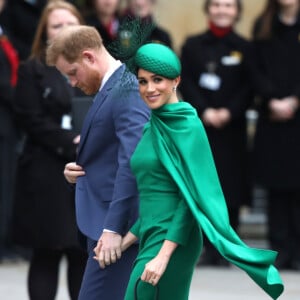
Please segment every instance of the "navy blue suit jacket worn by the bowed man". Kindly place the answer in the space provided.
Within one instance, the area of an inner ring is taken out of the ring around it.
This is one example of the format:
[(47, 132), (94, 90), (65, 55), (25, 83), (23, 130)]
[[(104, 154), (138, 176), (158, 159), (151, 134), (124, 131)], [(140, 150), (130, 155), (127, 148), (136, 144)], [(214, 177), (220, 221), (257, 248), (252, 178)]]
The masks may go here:
[(124, 235), (138, 216), (138, 193), (130, 157), (149, 119), (137, 80), (122, 65), (97, 93), (85, 118), (76, 182), (79, 229), (97, 241), (103, 229)]

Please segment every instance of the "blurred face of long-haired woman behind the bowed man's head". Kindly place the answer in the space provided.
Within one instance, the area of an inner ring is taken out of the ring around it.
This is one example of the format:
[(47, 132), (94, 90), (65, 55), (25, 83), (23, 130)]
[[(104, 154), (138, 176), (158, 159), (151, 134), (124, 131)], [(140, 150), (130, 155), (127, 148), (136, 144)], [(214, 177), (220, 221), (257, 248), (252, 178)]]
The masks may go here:
[(79, 25), (79, 20), (70, 11), (64, 8), (50, 12), (47, 22), (47, 40), (51, 41), (65, 26)]

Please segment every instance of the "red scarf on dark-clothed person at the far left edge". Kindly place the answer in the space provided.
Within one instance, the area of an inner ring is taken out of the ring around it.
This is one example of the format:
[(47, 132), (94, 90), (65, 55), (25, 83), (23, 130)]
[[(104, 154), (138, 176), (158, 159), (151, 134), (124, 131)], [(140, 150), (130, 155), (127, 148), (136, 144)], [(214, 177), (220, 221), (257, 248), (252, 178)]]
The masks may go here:
[(17, 51), (14, 49), (13, 45), (6, 36), (0, 37), (0, 47), (3, 49), (4, 54), (10, 63), (10, 84), (14, 87), (17, 84), (17, 72), (19, 67), (19, 57)]

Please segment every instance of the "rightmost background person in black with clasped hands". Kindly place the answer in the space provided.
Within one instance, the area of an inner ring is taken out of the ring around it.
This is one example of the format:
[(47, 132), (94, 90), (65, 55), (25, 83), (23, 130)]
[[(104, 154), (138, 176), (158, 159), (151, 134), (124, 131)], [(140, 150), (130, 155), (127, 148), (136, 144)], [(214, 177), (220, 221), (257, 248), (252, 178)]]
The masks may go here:
[(278, 268), (300, 270), (300, 1), (268, 0), (253, 28), (254, 180), (267, 191)]

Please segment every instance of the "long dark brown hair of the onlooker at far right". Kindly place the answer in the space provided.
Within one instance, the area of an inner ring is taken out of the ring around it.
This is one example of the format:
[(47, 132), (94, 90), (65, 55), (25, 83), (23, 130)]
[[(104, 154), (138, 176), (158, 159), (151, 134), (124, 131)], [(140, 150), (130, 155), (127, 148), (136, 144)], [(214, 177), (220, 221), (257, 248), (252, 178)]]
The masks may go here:
[(266, 40), (272, 37), (273, 20), (279, 11), (280, 4), (278, 0), (268, 0), (266, 2), (266, 5), (258, 18), (259, 21), (254, 30), (255, 39)]

